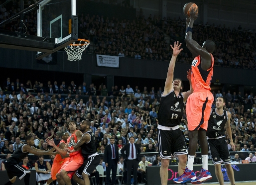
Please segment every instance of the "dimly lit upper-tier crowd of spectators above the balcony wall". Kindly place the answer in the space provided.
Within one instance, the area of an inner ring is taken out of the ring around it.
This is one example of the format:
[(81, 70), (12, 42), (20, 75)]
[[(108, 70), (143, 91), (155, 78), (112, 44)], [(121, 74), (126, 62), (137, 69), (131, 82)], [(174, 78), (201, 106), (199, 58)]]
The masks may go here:
[[(110, 3), (116, 4), (115, 0)], [(129, 6), (124, 1), (123, 5)], [(0, 2), (1, 4), (1, 2)], [(25, 8), (31, 1), (25, 0)], [(18, 0), (12, 0), (0, 7), (0, 22), (9, 18), (20, 10)], [(101, 55), (130, 57), (135, 59), (169, 61), (172, 50), (164, 39), (170, 37), (170, 43), (185, 38), (185, 19), (152, 16), (145, 18), (140, 9), (136, 19), (120, 20), (118, 17), (104, 17), (103, 15), (89, 15), (79, 13), (79, 35), (91, 41), (86, 52)], [(20, 20), (13, 20), (4, 25), (4, 29), (18, 31)], [(37, 14), (32, 11), (24, 16), (26, 34), (37, 34)], [(256, 69), (256, 33), (255, 30), (243, 30), (241, 26), (231, 29), (225, 25), (209, 25), (195, 23), (193, 39), (202, 45), (207, 39), (214, 40), (215, 65), (222, 67)], [(179, 62), (190, 63), (193, 58), (185, 48), (178, 57)]]

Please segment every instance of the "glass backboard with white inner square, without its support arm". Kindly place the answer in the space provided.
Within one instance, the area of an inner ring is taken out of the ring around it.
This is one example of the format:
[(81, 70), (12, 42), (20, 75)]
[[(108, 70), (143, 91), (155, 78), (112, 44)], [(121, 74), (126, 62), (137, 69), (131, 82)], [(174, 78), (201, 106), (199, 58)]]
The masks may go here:
[[(37, 36), (55, 38), (54, 50), (56, 51), (77, 40), (76, 0), (44, 0), (40, 2), (37, 10)], [(38, 52), (37, 59), (48, 54)]]

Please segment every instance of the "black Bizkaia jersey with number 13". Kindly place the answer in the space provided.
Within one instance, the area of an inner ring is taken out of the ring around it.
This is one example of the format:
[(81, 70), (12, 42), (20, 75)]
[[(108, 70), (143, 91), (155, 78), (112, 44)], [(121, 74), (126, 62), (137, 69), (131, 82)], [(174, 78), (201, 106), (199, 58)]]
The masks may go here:
[(180, 124), (183, 116), (184, 97), (182, 93), (176, 96), (174, 91), (161, 96), (157, 118), (162, 126), (173, 127)]

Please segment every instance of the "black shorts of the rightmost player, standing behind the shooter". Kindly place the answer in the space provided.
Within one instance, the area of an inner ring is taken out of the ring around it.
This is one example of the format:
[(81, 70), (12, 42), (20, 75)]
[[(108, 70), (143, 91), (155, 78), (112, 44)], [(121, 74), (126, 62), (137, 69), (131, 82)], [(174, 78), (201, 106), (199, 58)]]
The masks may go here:
[(220, 139), (207, 139), (207, 142), (213, 164), (221, 164), (221, 160), (223, 160), (224, 164), (231, 164), (230, 153), (225, 137)]

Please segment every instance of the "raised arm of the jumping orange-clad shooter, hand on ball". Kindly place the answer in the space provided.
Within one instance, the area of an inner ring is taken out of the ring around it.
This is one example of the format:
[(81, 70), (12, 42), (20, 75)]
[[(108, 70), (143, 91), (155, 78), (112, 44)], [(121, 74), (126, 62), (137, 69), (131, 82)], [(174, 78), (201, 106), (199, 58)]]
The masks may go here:
[[(190, 21), (188, 24), (188, 28), (186, 28), (186, 36), (185, 36), (185, 42), (186, 46), (189, 49), (189, 51), (192, 53), (193, 56), (200, 55), (204, 61), (207, 61), (207, 64), (202, 64), (203, 70), (208, 70), (212, 63), (211, 63), (211, 55), (210, 53), (203, 47), (201, 47), (195, 40), (192, 38), (192, 28), (194, 25), (194, 21), (197, 19), (198, 13), (195, 11), (195, 8), (192, 8), (190, 10)], [(187, 18), (187, 21), (189, 19)], [(186, 21), (186, 25), (187, 25)]]

